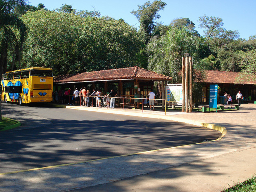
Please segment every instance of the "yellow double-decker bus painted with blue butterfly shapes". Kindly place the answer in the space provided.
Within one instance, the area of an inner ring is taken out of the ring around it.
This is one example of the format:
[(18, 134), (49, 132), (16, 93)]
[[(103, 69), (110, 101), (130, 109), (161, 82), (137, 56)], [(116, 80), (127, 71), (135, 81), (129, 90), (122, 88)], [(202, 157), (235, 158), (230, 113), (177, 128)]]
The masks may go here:
[(51, 102), (52, 69), (32, 67), (9, 71), (2, 75), (1, 100), (23, 103)]

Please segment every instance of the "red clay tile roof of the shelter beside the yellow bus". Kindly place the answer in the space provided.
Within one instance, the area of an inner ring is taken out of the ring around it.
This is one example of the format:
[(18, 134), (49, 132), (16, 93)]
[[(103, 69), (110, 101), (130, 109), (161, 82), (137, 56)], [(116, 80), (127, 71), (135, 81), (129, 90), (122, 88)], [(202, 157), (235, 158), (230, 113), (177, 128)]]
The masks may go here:
[(84, 72), (80, 74), (58, 76), (54, 78), (55, 83), (72, 83), (72, 82), (93, 82), (106, 80), (153, 80), (153, 81), (170, 81), (172, 78), (146, 70), (140, 67), (128, 67), (119, 69), (110, 69), (102, 71)]

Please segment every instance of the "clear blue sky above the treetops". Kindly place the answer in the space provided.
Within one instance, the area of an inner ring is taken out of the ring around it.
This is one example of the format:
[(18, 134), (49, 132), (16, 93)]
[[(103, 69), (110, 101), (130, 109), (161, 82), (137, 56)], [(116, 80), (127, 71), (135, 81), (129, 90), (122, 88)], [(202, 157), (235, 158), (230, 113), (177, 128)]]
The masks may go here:
[[(138, 10), (147, 0), (28, 0), (30, 5), (44, 4), (48, 10), (55, 10), (64, 4), (72, 5), (76, 10), (96, 10), (101, 16), (110, 16), (114, 19), (124, 19), (128, 24), (139, 28), (139, 22), (130, 12)], [(248, 40), (256, 35), (256, 0), (162, 0), (167, 5), (159, 12), (158, 22), (170, 24), (176, 18), (189, 18), (198, 28), (198, 18), (215, 16), (222, 18), (226, 30), (238, 30), (240, 38)], [(150, 2), (153, 2), (151, 0)]]

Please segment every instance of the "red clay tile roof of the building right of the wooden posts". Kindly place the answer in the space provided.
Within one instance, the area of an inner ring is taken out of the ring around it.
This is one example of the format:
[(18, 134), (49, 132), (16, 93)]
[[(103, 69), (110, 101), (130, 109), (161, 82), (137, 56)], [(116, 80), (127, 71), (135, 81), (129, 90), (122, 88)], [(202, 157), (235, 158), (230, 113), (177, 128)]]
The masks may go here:
[(229, 71), (212, 71), (204, 70), (205, 79), (197, 80), (197, 82), (205, 83), (225, 83), (225, 84), (256, 84), (254, 80), (239, 80), (239, 72), (229, 72)]

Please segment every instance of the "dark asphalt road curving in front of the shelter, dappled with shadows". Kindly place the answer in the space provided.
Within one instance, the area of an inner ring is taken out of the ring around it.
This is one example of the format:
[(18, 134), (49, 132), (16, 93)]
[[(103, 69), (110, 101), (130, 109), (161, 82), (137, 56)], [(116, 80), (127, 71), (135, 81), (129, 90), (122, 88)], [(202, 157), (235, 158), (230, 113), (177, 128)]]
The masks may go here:
[(19, 120), (0, 132), (0, 173), (213, 140), (221, 134), (167, 120), (1, 103)]

